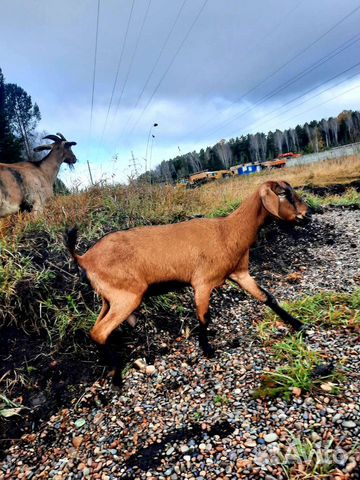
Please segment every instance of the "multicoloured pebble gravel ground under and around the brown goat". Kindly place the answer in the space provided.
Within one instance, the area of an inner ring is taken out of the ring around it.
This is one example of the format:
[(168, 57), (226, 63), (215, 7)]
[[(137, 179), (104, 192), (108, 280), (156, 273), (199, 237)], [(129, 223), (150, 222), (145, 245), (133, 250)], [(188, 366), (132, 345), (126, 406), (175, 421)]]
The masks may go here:
[[(279, 300), (353, 291), (359, 247), (360, 211), (326, 210), (306, 230), (266, 229), (252, 271)], [(220, 289), (212, 298), (214, 359), (193, 336), (159, 332), (154, 368), (129, 368), (121, 389), (110, 378), (80, 384), (70, 408), (9, 449), (0, 479), (281, 479), (295, 438), (311, 440), (324, 462), (335, 459), (331, 478), (360, 478), (359, 334), (318, 328), (307, 339), (345, 365), (339, 396), (255, 400), (263, 371), (275, 366), (256, 330), (263, 311), (233, 287)]]

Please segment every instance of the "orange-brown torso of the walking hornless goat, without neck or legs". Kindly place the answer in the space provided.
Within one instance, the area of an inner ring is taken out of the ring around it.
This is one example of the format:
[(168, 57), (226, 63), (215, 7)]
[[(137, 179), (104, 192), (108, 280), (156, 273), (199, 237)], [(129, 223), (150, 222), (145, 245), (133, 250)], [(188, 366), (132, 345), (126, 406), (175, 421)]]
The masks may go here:
[[(222, 219), (194, 219), (178, 224), (139, 227), (106, 235), (83, 256), (90, 277), (110, 283), (181, 281), (191, 283), (199, 269), (221, 263)], [(224, 262), (224, 259), (223, 259)]]

